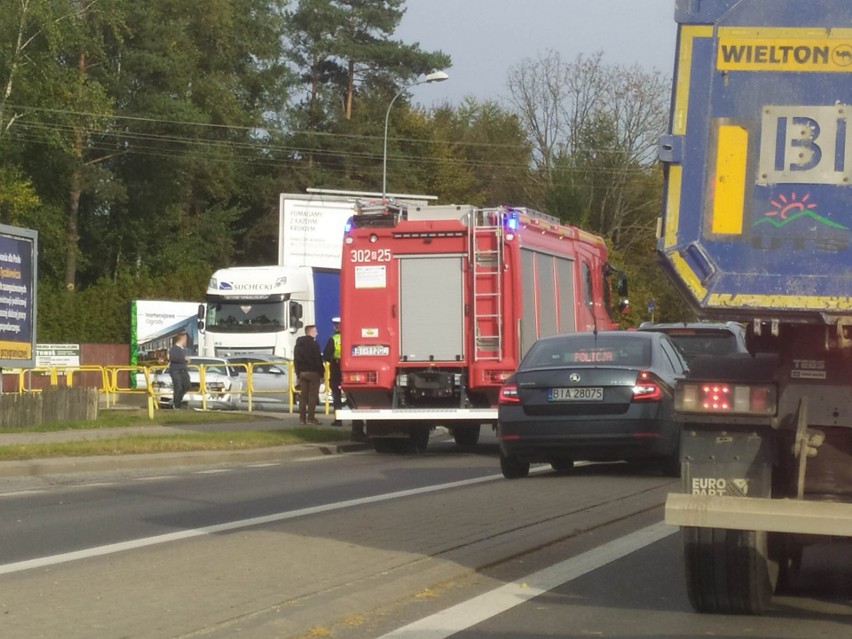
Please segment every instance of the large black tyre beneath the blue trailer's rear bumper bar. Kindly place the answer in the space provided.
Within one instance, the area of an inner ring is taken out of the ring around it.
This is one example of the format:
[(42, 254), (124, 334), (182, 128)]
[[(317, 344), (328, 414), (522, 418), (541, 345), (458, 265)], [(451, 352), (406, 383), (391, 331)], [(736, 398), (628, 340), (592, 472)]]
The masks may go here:
[(767, 534), (753, 530), (684, 527), (689, 603), (698, 612), (763, 614), (769, 607), (777, 564), (768, 557)]

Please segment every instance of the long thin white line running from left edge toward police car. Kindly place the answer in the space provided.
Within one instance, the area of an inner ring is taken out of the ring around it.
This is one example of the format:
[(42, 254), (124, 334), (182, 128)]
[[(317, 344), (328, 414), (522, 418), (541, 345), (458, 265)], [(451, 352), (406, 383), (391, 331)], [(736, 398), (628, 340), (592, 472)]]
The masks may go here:
[(451, 488), (461, 488), (463, 486), (472, 486), (474, 484), (483, 484), (490, 481), (503, 480), (502, 475), (488, 475), (487, 477), (478, 477), (476, 479), (465, 479), (462, 481), (454, 481), (446, 484), (436, 484), (434, 486), (425, 486), (423, 488), (412, 488), (410, 490), (400, 490), (393, 493), (385, 493), (382, 495), (374, 495), (373, 497), (361, 497), (359, 499), (350, 499), (334, 504), (326, 504), (324, 506), (312, 506), (310, 508), (300, 508), (299, 510), (291, 510), (274, 515), (265, 515), (263, 517), (252, 517), (250, 519), (241, 519), (239, 521), (231, 521), (215, 526), (205, 526), (203, 528), (193, 528), (189, 530), (181, 530), (178, 532), (167, 533), (164, 535), (155, 535), (154, 537), (143, 537), (142, 539), (131, 539), (115, 544), (107, 544), (106, 546), (96, 546), (94, 548), (85, 548), (73, 552), (61, 553), (58, 555), (50, 555), (48, 557), (37, 557), (35, 559), (27, 559), (25, 561), (16, 561), (10, 564), (0, 565), (0, 575), (8, 575), (24, 570), (32, 570), (33, 568), (44, 568), (47, 566), (55, 566), (69, 561), (78, 559), (89, 559), (91, 557), (102, 557), (111, 555), (126, 550), (134, 550), (137, 548), (145, 548), (148, 546), (156, 546), (158, 544), (180, 541), (182, 539), (192, 539), (193, 537), (202, 537), (204, 535), (215, 535), (221, 532), (231, 530), (239, 530), (241, 528), (250, 528), (252, 526), (262, 526), (264, 524), (272, 524), (288, 519), (296, 519), (307, 515), (316, 515), (319, 513), (342, 510), (343, 508), (352, 508), (354, 506), (363, 506), (365, 504), (376, 504), (383, 501), (391, 501), (393, 499), (401, 499), (403, 497), (412, 497), (414, 495), (423, 495), (426, 493), (434, 493), (441, 490), (449, 490)]

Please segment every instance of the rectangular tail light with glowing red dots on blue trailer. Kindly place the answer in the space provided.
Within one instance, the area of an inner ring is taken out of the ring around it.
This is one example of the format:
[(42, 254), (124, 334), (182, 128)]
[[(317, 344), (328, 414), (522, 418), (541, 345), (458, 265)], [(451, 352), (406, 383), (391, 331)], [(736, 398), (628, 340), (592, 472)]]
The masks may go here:
[(683, 413), (774, 415), (775, 386), (731, 382), (684, 382), (675, 391), (675, 410)]

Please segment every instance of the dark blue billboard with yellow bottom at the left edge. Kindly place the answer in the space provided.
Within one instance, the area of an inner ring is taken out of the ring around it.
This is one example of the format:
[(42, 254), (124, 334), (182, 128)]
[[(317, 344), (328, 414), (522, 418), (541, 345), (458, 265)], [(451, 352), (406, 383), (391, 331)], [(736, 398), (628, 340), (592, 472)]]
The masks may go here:
[(0, 367), (35, 366), (38, 233), (0, 224)]

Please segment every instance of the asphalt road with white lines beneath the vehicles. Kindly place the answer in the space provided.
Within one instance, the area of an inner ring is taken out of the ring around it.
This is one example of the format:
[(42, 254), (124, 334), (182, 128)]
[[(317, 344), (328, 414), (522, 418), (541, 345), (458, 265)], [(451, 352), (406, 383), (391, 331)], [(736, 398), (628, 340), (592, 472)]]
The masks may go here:
[(507, 481), (483, 435), (0, 480), (0, 636), (850, 636), (852, 555), (806, 556), (808, 588), (764, 618), (698, 615), (660, 523), (676, 482), (623, 464)]

